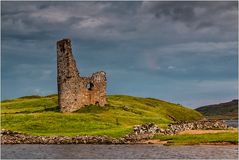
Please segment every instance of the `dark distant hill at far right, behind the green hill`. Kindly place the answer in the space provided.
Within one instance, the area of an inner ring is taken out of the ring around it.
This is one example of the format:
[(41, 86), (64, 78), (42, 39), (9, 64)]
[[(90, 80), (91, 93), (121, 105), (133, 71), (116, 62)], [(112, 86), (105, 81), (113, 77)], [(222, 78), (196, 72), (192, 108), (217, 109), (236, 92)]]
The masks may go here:
[(238, 100), (203, 106), (196, 110), (209, 119), (238, 119)]

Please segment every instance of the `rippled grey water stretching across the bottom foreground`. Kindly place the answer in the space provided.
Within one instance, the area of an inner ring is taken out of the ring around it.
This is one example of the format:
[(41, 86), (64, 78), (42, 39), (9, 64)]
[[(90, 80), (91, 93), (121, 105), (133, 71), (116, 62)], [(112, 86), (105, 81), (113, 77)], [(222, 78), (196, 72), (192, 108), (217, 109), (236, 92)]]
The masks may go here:
[(2, 145), (3, 159), (237, 159), (238, 146), (163, 146), (163, 145)]

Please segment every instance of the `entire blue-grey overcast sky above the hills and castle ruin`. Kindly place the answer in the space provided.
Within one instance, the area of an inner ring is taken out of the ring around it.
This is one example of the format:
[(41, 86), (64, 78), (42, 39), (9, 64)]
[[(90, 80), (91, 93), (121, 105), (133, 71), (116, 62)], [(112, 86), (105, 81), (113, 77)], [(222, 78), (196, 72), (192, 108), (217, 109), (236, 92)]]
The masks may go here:
[(188, 107), (237, 98), (237, 2), (1, 2), (2, 99), (57, 92), (56, 41), (108, 94)]

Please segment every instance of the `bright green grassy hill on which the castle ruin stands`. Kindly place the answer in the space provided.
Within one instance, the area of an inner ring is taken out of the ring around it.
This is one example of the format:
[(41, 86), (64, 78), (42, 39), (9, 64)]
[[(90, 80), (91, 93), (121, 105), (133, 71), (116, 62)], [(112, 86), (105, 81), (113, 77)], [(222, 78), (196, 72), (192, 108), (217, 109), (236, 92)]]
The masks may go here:
[(74, 113), (60, 113), (56, 95), (5, 100), (1, 102), (2, 128), (32, 135), (121, 137), (137, 124), (154, 122), (166, 127), (175, 120), (202, 118), (195, 110), (153, 98), (112, 95), (107, 103), (105, 107), (91, 105)]

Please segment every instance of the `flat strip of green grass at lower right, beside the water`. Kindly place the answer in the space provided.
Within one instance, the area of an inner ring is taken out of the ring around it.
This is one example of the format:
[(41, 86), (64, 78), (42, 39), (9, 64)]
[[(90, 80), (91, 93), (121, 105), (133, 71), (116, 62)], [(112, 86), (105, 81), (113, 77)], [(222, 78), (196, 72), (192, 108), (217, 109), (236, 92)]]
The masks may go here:
[(238, 144), (238, 132), (206, 133), (206, 134), (183, 134), (183, 135), (155, 135), (153, 139), (167, 141), (167, 145), (194, 145), (205, 143), (228, 142)]

